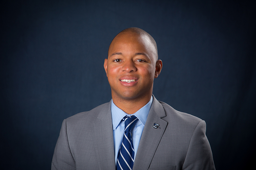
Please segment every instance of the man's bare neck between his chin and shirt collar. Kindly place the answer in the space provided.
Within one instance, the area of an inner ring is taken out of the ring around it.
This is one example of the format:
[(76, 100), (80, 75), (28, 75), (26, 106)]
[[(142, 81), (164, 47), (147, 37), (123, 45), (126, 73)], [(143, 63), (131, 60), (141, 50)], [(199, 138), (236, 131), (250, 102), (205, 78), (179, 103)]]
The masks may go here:
[(144, 96), (143, 98), (139, 99), (121, 99), (117, 96), (112, 95), (112, 100), (117, 107), (122, 109), (127, 114), (134, 114), (141, 107), (145, 106), (151, 99), (152, 94), (149, 96)]

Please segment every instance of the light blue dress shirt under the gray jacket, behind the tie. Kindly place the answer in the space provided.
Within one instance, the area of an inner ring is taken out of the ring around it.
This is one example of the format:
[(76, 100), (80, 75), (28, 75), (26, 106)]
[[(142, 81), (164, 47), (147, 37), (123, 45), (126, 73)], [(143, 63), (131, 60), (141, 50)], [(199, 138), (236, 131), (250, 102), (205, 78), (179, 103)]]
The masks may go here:
[[(140, 143), (140, 138), (148, 118), (148, 113), (149, 113), (152, 101), (153, 101), (153, 97), (151, 96), (150, 101), (145, 106), (141, 107), (140, 110), (132, 114), (139, 119), (133, 125), (131, 130), (132, 142), (133, 142), (134, 152), (135, 152), (134, 159), (136, 157), (136, 153)], [(114, 104), (113, 100), (111, 101), (111, 113), (112, 113), (112, 123), (113, 123), (114, 146), (115, 146), (115, 160), (117, 161), (117, 155), (120, 150), (123, 136), (124, 136), (124, 121), (121, 121), (121, 120), (124, 118), (124, 116), (129, 114), (125, 113), (123, 110), (118, 108)]]

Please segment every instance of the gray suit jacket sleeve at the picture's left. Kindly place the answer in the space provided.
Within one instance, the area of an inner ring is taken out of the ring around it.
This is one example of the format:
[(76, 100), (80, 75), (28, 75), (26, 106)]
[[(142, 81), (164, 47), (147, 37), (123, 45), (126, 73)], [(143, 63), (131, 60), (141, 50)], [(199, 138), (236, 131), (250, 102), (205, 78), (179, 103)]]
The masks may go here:
[(76, 163), (70, 151), (66, 119), (62, 122), (60, 136), (52, 157), (52, 170), (75, 170)]

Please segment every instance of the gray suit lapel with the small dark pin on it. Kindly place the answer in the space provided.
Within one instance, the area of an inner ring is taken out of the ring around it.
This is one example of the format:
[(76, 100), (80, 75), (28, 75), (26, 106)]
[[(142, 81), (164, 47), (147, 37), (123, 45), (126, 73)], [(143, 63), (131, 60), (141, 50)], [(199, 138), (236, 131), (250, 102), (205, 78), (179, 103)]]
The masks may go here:
[[(144, 126), (138, 151), (134, 160), (133, 170), (148, 169), (156, 148), (164, 134), (167, 122), (161, 118), (165, 116), (163, 106), (153, 96), (152, 106), (148, 113), (148, 118)], [(153, 124), (159, 124), (158, 128), (153, 128)]]

